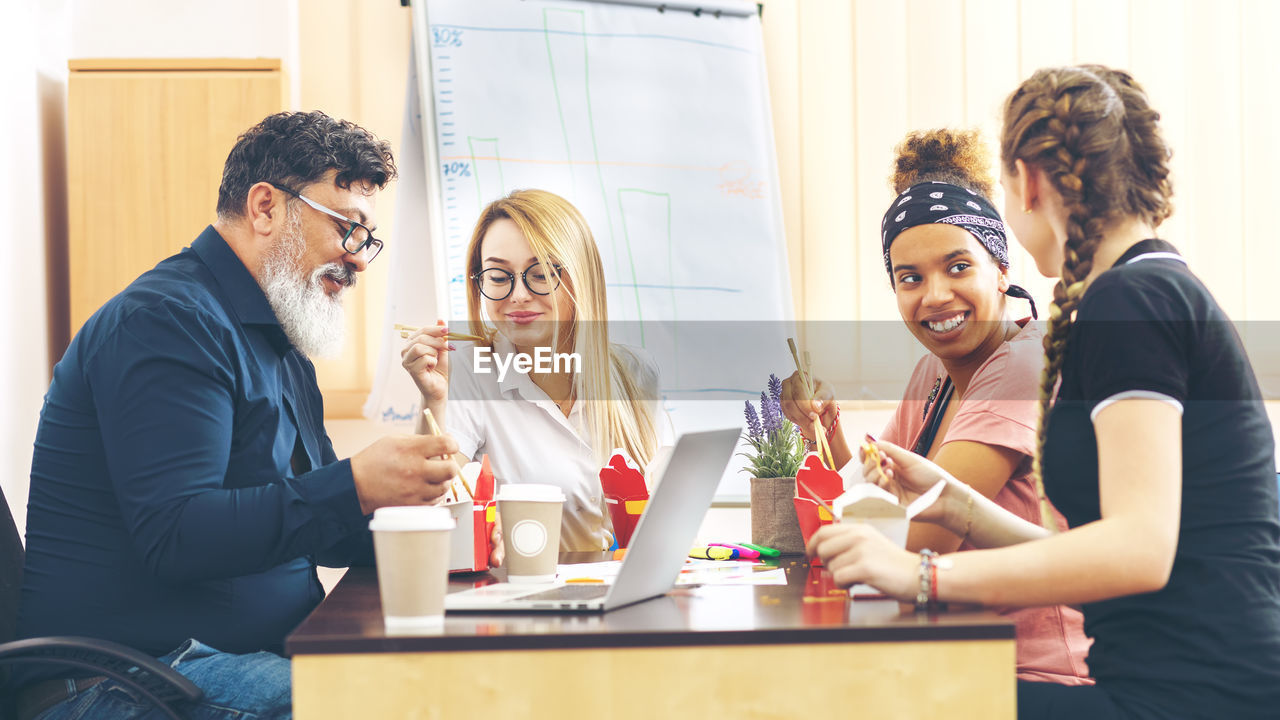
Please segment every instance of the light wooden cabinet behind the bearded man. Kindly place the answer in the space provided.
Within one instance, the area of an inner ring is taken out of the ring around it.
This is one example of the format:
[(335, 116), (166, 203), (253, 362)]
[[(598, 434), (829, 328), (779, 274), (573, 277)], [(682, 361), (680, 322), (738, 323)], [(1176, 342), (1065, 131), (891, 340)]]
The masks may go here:
[(271, 59), (72, 60), (70, 331), (214, 222), (223, 163), (284, 109)]

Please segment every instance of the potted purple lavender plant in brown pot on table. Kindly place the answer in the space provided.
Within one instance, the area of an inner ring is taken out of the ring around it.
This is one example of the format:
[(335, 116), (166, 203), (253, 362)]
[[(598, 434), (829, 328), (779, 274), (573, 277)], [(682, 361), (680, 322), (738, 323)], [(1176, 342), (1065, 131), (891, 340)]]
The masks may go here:
[(746, 442), (750, 450), (744, 471), (751, 475), (751, 542), (785, 553), (804, 552), (804, 538), (792, 498), (796, 471), (804, 461), (800, 430), (782, 416), (782, 380), (769, 375), (756, 411), (746, 402)]

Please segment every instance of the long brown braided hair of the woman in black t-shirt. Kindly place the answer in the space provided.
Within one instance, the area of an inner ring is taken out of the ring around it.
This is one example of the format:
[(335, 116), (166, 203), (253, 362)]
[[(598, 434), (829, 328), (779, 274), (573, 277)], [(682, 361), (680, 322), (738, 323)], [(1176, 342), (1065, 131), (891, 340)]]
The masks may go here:
[(1062, 273), (1044, 333), (1033, 461), (1041, 521), (1050, 529), (1056, 524), (1041, 473), (1048, 411), (1093, 254), (1103, 228), (1114, 220), (1135, 217), (1156, 227), (1172, 213), (1170, 152), (1158, 120), (1132, 76), (1101, 65), (1038, 70), (1005, 102), (1001, 158), (1006, 170), (1016, 172), (1016, 160), (1043, 170), (1068, 213)]

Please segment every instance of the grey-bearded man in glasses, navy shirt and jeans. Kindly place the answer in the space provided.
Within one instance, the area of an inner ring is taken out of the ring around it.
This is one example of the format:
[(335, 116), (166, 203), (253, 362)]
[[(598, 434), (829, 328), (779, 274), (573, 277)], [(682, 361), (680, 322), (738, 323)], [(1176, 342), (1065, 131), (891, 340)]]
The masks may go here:
[[(160, 657), (205, 691), (192, 716), (289, 715), (279, 652), (324, 596), (316, 564), (371, 562), (367, 516), (453, 477), (447, 437), (338, 460), (308, 360), (342, 343), (394, 176), (389, 146), (352, 123), (271, 115), (227, 158), (218, 220), (90, 318), (40, 415), (18, 637)], [(86, 675), (15, 673), (19, 712), (148, 712)]]

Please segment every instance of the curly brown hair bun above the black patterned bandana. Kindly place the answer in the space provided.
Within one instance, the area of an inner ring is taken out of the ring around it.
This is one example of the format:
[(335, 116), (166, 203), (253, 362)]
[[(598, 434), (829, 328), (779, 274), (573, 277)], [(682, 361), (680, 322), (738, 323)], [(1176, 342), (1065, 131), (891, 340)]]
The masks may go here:
[(931, 129), (909, 133), (893, 149), (890, 186), (901, 195), (913, 184), (940, 181), (991, 197), (991, 150), (975, 129)]

